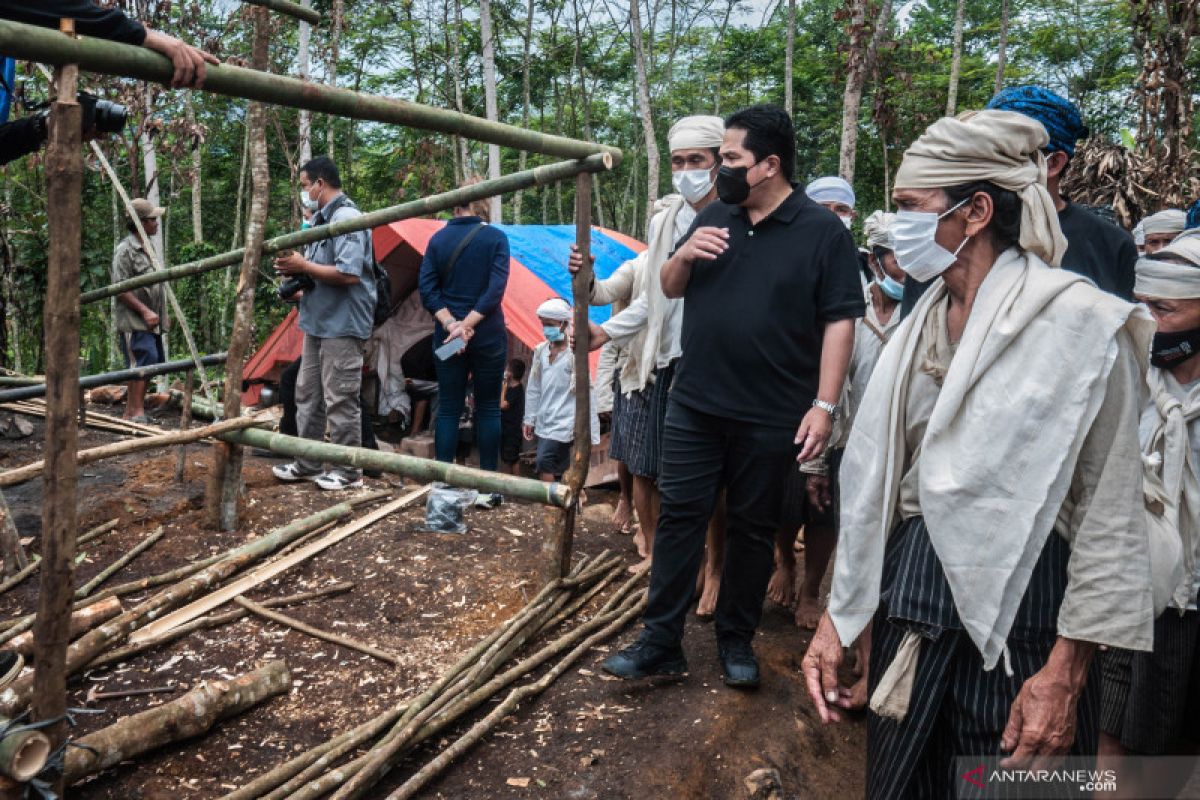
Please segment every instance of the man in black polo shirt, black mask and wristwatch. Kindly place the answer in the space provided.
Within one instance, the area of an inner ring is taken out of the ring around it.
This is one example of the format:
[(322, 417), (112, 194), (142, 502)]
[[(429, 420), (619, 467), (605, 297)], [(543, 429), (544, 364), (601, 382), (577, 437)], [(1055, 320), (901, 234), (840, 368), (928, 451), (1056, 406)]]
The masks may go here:
[(730, 686), (758, 685), (750, 640), (774, 564), (786, 471), (824, 450), (865, 312), (858, 258), (835, 215), (792, 185), (796, 134), (775, 106), (730, 116), (709, 204), (662, 267), (684, 299), (667, 407), (650, 590), (638, 640), (604, 669), (686, 670), (680, 642), (720, 491), (728, 530), (715, 628)]

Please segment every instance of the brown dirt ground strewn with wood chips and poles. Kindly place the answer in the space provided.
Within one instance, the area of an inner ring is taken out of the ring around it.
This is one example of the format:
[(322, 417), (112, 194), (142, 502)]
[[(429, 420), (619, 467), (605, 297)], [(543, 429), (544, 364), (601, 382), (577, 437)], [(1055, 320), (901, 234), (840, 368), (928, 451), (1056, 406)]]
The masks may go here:
[[(109, 411), (101, 408), (97, 410)], [(168, 420), (164, 427), (175, 425)], [(32, 437), (0, 441), (0, 469), (41, 457), (41, 421)], [(80, 446), (114, 437), (96, 431)], [(156, 575), (222, 552), (252, 536), (336, 501), (312, 485), (280, 485), (274, 461), (247, 458), (248, 501), (240, 530), (204, 528), (202, 505), (209, 449), (187, 450), (185, 481), (175, 483), (175, 453), (138, 455), (89, 464), (79, 476), (80, 530), (113, 518), (115, 531), (84, 546), (77, 583), (97, 575), (157, 525), (166, 536), (110, 583)], [(395, 477), (367, 480), (398, 488)], [(41, 482), (5, 492), (18, 529), (40, 549)], [(592, 492), (592, 503), (611, 500)], [(594, 516), (594, 515), (589, 515)], [(317, 627), (344, 633), (397, 654), (394, 667), (274, 622), (246, 618), (199, 631), (173, 644), (72, 681), (70, 703), (84, 706), (101, 691), (173, 685), (172, 693), (102, 700), (103, 712), (80, 715), (78, 734), (178, 697), (197, 681), (230, 678), (284, 658), (292, 691), (218, 724), (209, 735), (121, 764), (78, 786), (72, 796), (139, 800), (217, 798), (287, 757), (317, 745), (419, 693), (473, 643), (511, 616), (536, 585), (542, 536), (540, 507), (506, 503), (472, 511), (462, 535), (421, 530), (424, 505), (389, 517), (259, 587), (263, 600), (354, 582), (347, 594), (283, 609)], [(629, 537), (607, 522), (584, 518), (577, 553), (608, 548), (636, 561)], [(37, 581), (0, 596), (0, 619), (34, 609)], [(142, 596), (125, 599), (126, 607)], [(224, 610), (224, 609), (222, 609)], [(631, 626), (532, 703), (505, 720), (457, 762), (422, 798), (745, 798), (743, 778), (778, 769), (786, 798), (862, 796), (865, 726), (854, 720), (822, 727), (804, 697), (799, 661), (808, 634), (778, 608), (763, 616), (756, 649), (763, 685), (752, 693), (721, 684), (712, 626), (689, 619), (689, 678), (626, 684), (602, 674), (599, 662), (636, 634)], [(456, 734), (448, 734), (449, 738)], [(418, 751), (371, 796), (395, 789), (432, 747)]]

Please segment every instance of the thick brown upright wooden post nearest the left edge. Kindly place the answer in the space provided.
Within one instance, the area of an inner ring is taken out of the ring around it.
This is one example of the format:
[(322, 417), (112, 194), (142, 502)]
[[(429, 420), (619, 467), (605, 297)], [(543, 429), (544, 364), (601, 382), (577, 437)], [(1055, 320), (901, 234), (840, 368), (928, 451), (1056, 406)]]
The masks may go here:
[[(74, 23), (60, 22), (74, 36)], [(34, 624), (34, 720), (66, 712), (66, 655), (71, 633), (76, 548), (76, 446), (79, 399), (79, 249), (83, 193), (83, 116), (76, 102), (78, 67), (56, 70), (46, 154), (49, 258), (46, 276), (46, 473), (42, 488), (42, 576)], [(46, 729), (53, 747), (64, 723)], [(54, 790), (61, 796), (61, 777)]]

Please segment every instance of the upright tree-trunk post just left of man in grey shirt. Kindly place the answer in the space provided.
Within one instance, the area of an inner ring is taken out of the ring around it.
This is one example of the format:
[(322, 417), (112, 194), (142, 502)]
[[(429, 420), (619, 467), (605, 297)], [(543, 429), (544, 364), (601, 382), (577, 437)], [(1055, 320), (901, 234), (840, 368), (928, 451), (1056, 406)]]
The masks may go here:
[[(271, 37), (271, 20), (266, 8), (254, 8), (254, 47), (251, 65), (265, 72), (268, 46)], [(241, 414), (241, 368), (250, 350), (250, 336), (254, 327), (254, 285), (258, 283), (258, 265), (263, 260), (263, 231), (266, 228), (266, 203), (270, 192), (270, 173), (266, 157), (266, 108), (263, 103), (250, 104), (246, 114), (250, 132), (250, 219), (246, 228), (246, 253), (241, 259), (238, 278), (238, 301), (234, 306), (233, 332), (229, 336), (229, 359), (226, 361), (224, 419)], [(212, 471), (209, 479), (206, 511), (208, 522), (220, 530), (238, 528), (238, 499), (241, 494), (240, 445), (220, 441), (212, 445)]]

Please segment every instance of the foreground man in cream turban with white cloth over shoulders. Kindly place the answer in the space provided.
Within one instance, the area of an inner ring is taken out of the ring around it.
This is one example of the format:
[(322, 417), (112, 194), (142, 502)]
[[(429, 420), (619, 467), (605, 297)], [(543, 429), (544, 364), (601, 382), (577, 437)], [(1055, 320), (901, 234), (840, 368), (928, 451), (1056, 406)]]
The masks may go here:
[(834, 721), (842, 646), (871, 628), (871, 798), (954, 796), (958, 756), (1094, 754), (1097, 645), (1151, 648), (1153, 321), (1055, 267), (1046, 142), (1025, 115), (968, 112), (896, 173), (896, 259), (937, 279), (858, 408), (829, 610), (803, 661)]

